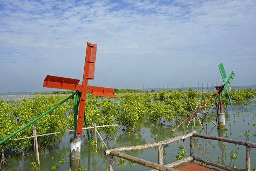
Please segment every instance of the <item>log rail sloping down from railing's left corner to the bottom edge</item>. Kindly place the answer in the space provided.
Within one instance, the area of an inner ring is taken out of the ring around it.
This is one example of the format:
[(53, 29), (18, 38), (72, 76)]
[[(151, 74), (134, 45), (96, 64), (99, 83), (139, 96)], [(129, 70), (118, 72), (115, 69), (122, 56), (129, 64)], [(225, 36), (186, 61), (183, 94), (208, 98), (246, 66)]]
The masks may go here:
[(153, 163), (151, 161), (147, 161), (147, 160), (143, 160), (143, 159), (140, 159), (140, 158), (137, 158), (137, 157), (134, 157), (134, 156), (119, 153), (117, 151), (111, 151), (111, 155), (129, 160), (129, 161), (132, 161), (134, 163), (137, 163), (137, 164), (140, 164), (140, 165), (143, 165), (143, 166), (147, 166), (147, 167), (152, 168), (152, 169), (157, 169), (159, 171), (178, 171), (177, 169), (169, 168), (169, 167), (163, 166), (163, 165), (158, 164), (158, 163)]

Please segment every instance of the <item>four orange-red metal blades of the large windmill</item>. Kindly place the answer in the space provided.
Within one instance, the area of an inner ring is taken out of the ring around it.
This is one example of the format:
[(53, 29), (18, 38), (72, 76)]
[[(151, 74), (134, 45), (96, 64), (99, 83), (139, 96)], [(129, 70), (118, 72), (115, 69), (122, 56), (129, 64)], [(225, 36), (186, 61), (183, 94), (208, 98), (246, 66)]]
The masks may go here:
[(81, 91), (78, 122), (77, 122), (77, 135), (82, 135), (83, 116), (85, 112), (86, 92), (89, 91), (93, 96), (115, 98), (113, 88), (104, 88), (97, 86), (88, 86), (88, 80), (94, 79), (95, 61), (96, 61), (97, 45), (87, 43), (85, 68), (83, 72), (82, 85), (78, 84), (80, 80), (65, 77), (56, 77), (47, 75), (44, 79), (44, 87), (59, 88), (65, 90)]

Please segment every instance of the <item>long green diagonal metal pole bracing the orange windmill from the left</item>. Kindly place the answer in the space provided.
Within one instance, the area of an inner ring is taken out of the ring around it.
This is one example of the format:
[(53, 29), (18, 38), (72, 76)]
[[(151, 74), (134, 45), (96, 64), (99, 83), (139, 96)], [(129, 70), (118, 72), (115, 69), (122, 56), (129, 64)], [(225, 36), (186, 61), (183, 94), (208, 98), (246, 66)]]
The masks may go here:
[(36, 119), (34, 119), (33, 121), (29, 122), (28, 124), (26, 124), (25, 126), (23, 126), (22, 128), (20, 128), (19, 130), (15, 131), (13, 134), (9, 135), (8, 137), (6, 137), (5, 139), (3, 139), (0, 144), (6, 142), (8, 139), (10, 139), (11, 137), (13, 137), (15, 134), (18, 134), (19, 132), (21, 132), (23, 129), (25, 129), (26, 127), (28, 127), (29, 125), (33, 124), (34, 122), (38, 121), (39, 119), (41, 119), (43, 116), (45, 116), (46, 114), (48, 114), (49, 112), (51, 112), (52, 110), (54, 110), (55, 108), (59, 107), (60, 104), (64, 103), (65, 101), (67, 101), (68, 99), (72, 98), (73, 96), (75, 96), (76, 93), (71, 94), (70, 96), (68, 96), (67, 98), (65, 98), (63, 101), (61, 101), (59, 104), (57, 104), (56, 106), (52, 107), (51, 109), (49, 109), (47, 112), (43, 113), (41, 116), (37, 117)]

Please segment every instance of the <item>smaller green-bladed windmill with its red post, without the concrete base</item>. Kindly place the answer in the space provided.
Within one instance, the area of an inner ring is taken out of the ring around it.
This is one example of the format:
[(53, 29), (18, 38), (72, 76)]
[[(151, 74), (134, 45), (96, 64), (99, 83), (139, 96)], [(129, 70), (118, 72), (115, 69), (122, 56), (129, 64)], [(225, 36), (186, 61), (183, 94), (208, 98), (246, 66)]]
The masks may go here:
[[(218, 65), (218, 68), (220, 69), (220, 74), (221, 74), (221, 77), (222, 77), (224, 85), (222, 85), (222, 86), (215, 86), (215, 88), (217, 89), (217, 91), (221, 89), (219, 91), (219, 95), (220, 96), (218, 98), (218, 101), (219, 101), (219, 106), (220, 106), (220, 113), (223, 113), (223, 111), (222, 111), (222, 96), (224, 95), (225, 91), (227, 91), (228, 100), (229, 100), (230, 106), (233, 107), (232, 101), (231, 101), (230, 95), (228, 93), (228, 88), (227, 87), (228, 87), (228, 84), (231, 85), (231, 83), (233, 82), (233, 79), (235, 78), (235, 73), (232, 71), (230, 76), (228, 77), (228, 80), (226, 81), (227, 74), (225, 72), (223, 64), (221, 63), (220, 65)], [(218, 109), (217, 109), (217, 113), (218, 113)]]

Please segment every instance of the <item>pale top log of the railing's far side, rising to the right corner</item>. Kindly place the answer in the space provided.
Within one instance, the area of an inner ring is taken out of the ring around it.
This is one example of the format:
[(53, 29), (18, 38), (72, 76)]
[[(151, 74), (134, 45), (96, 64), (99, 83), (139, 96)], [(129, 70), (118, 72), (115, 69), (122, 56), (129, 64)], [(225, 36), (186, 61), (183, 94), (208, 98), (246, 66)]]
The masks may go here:
[(165, 145), (165, 144), (169, 144), (178, 140), (183, 140), (185, 138), (191, 137), (195, 132), (190, 132), (189, 134), (186, 135), (180, 135), (174, 138), (171, 138), (169, 140), (165, 140), (165, 141), (160, 141), (160, 142), (153, 142), (153, 143), (147, 143), (147, 144), (143, 144), (143, 145), (135, 145), (135, 146), (129, 146), (129, 147), (119, 147), (119, 148), (113, 148), (110, 150), (105, 150), (104, 151), (104, 155), (109, 155), (111, 151), (118, 151), (118, 152), (122, 152), (122, 151), (134, 151), (134, 150), (144, 150), (146, 148), (152, 148), (152, 147), (158, 147), (159, 145)]

